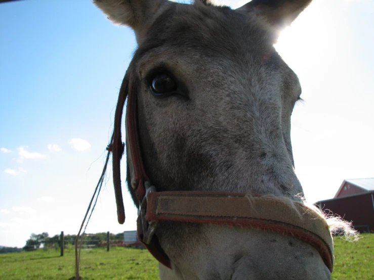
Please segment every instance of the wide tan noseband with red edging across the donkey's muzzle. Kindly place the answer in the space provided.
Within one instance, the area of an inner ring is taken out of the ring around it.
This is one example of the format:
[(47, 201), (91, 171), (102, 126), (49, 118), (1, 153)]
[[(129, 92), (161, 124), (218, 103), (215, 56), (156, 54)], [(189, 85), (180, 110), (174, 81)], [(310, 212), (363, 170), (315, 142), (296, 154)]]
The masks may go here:
[(324, 217), (299, 202), (215, 192), (158, 192), (147, 196), (147, 220), (261, 228), (314, 246), (333, 270), (333, 239)]

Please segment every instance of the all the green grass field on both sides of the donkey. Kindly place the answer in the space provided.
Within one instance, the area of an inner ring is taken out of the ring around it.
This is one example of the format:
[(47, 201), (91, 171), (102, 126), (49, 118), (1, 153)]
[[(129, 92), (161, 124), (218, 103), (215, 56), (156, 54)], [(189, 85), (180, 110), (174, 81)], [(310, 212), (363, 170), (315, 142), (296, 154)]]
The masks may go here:
[[(335, 239), (333, 279), (374, 280), (374, 234), (364, 234), (356, 243)], [(0, 255), (0, 279), (68, 280), (74, 275), (74, 251), (64, 257), (59, 250), (37, 250)], [(83, 279), (158, 279), (158, 265), (146, 250), (112, 247), (82, 251)], [(316, 279), (317, 280), (317, 279)]]

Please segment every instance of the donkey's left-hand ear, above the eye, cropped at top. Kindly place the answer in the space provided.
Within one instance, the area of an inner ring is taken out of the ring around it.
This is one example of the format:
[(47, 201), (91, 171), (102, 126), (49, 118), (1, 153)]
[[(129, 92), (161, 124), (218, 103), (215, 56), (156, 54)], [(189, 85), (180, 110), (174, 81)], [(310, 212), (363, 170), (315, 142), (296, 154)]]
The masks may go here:
[(168, 0), (94, 0), (95, 5), (114, 24), (134, 29), (138, 43), (154, 15)]

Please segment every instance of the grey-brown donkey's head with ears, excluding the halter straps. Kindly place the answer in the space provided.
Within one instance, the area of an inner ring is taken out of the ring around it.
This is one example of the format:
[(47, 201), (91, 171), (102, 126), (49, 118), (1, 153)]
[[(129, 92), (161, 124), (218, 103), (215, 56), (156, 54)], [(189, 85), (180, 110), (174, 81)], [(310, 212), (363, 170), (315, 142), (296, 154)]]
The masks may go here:
[[(135, 31), (128, 74), (157, 191), (297, 200), (290, 116), (301, 87), (273, 43), (310, 0), (253, 0), (236, 10), (200, 1), (94, 2)], [(173, 267), (160, 265), (162, 279), (330, 279), (314, 247), (274, 232), (162, 222), (156, 235)]]

